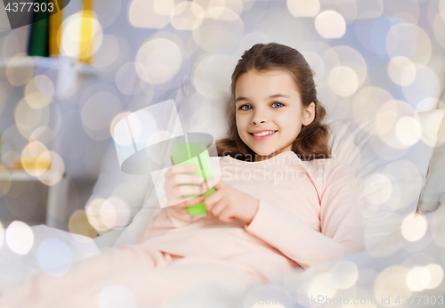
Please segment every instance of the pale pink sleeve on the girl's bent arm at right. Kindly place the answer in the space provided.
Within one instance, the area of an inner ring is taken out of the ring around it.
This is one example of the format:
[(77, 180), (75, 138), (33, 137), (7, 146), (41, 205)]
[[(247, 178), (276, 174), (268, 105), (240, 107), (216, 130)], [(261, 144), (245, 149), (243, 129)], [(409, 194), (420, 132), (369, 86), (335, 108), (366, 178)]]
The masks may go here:
[(359, 188), (352, 168), (337, 162), (323, 186), (319, 191), (321, 232), (262, 200), (244, 229), (303, 268), (363, 250)]

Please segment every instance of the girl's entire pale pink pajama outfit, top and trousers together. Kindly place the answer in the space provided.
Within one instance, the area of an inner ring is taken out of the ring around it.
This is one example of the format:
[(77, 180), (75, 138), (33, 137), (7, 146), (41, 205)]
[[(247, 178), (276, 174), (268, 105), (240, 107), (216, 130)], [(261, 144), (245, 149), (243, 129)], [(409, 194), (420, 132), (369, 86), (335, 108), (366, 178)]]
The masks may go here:
[(153, 307), (209, 284), (241, 292), (364, 248), (349, 166), (303, 162), (288, 151), (263, 162), (221, 158), (221, 167), (223, 181), (260, 200), (249, 225), (166, 207), (150, 219), (139, 244), (84, 260), (62, 277), (43, 274), (6, 289), (0, 307), (108, 307), (119, 300)]

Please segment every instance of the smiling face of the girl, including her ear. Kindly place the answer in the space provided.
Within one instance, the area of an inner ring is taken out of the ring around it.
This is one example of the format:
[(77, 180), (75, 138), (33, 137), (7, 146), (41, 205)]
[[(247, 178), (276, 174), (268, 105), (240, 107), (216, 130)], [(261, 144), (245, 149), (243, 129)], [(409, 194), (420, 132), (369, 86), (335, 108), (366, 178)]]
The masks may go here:
[(235, 86), (239, 137), (261, 157), (292, 150), (302, 124), (311, 124), (315, 104), (304, 107), (294, 79), (283, 70), (248, 72)]

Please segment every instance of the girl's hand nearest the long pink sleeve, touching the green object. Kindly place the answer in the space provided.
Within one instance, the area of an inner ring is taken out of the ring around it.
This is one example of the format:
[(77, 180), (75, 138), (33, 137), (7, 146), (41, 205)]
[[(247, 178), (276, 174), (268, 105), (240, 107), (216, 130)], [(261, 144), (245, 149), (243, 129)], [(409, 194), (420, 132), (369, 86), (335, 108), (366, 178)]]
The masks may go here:
[(207, 217), (230, 223), (235, 218), (249, 224), (254, 219), (260, 201), (244, 192), (234, 189), (226, 182), (220, 180), (214, 185), (216, 190), (204, 199)]

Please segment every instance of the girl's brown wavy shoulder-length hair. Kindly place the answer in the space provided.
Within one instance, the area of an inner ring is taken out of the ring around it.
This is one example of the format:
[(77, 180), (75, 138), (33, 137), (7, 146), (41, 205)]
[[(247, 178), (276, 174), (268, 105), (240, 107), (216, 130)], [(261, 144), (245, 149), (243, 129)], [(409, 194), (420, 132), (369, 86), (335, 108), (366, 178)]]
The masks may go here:
[(256, 44), (245, 51), (231, 75), (231, 97), (227, 104), (226, 116), (229, 121), (227, 138), (216, 141), (218, 156), (229, 155), (244, 161), (255, 161), (257, 154), (247, 147), (238, 134), (235, 107), (235, 86), (239, 77), (248, 72), (264, 72), (273, 69), (287, 71), (295, 80), (303, 106), (315, 103), (315, 118), (308, 126), (303, 126), (292, 144), (292, 150), (302, 160), (330, 158), (328, 146), (329, 128), (322, 121), (326, 109), (317, 99), (313, 81), (313, 71), (303, 55), (287, 45), (278, 43)]

